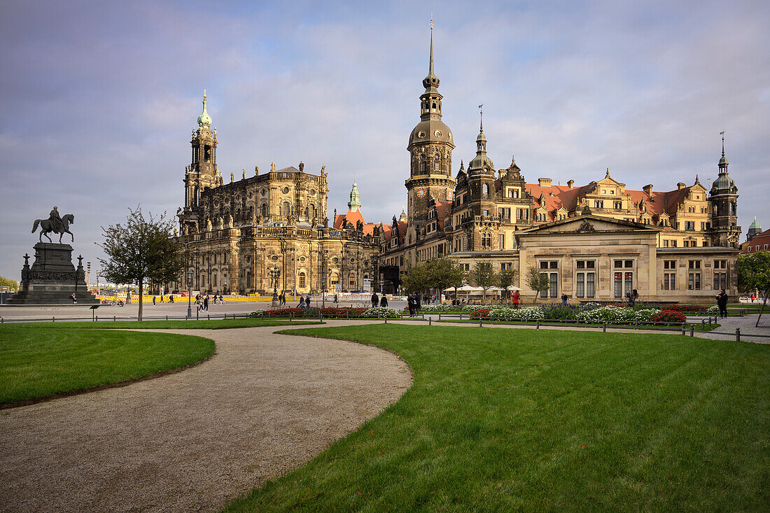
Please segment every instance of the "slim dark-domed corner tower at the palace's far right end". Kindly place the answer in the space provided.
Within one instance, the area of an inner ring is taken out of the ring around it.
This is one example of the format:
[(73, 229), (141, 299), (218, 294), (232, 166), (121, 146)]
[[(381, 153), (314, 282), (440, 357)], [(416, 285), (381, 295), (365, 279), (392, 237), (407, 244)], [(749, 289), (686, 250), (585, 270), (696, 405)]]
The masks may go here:
[(722, 132), (722, 156), (719, 159), (719, 176), (711, 186), (708, 201), (711, 202), (711, 246), (738, 247), (741, 227), (738, 226), (738, 187), (727, 173), (725, 158), (725, 132)]

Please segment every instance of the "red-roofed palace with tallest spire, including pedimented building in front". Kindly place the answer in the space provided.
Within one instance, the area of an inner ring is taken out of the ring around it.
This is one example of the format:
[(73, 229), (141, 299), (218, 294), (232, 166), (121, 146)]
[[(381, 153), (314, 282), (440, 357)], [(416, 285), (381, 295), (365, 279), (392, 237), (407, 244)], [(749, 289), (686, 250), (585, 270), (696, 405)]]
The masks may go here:
[(737, 293), (738, 188), (724, 137), (711, 187), (696, 174), (692, 185), (671, 191), (627, 189), (609, 169), (587, 185), (569, 179), (562, 186), (551, 178), (527, 183), (515, 159), (497, 169), (482, 117), (476, 156), (453, 176), (454, 140), (442, 120), (433, 54), (431, 28), (420, 122), (407, 144), (407, 213), (393, 216), (380, 240), (386, 290), (411, 265), (452, 255), (467, 270), (478, 260), (517, 270), (524, 289), (521, 277), (535, 267), (551, 279), (543, 297), (614, 300), (636, 289), (648, 300), (711, 300), (719, 288)]

